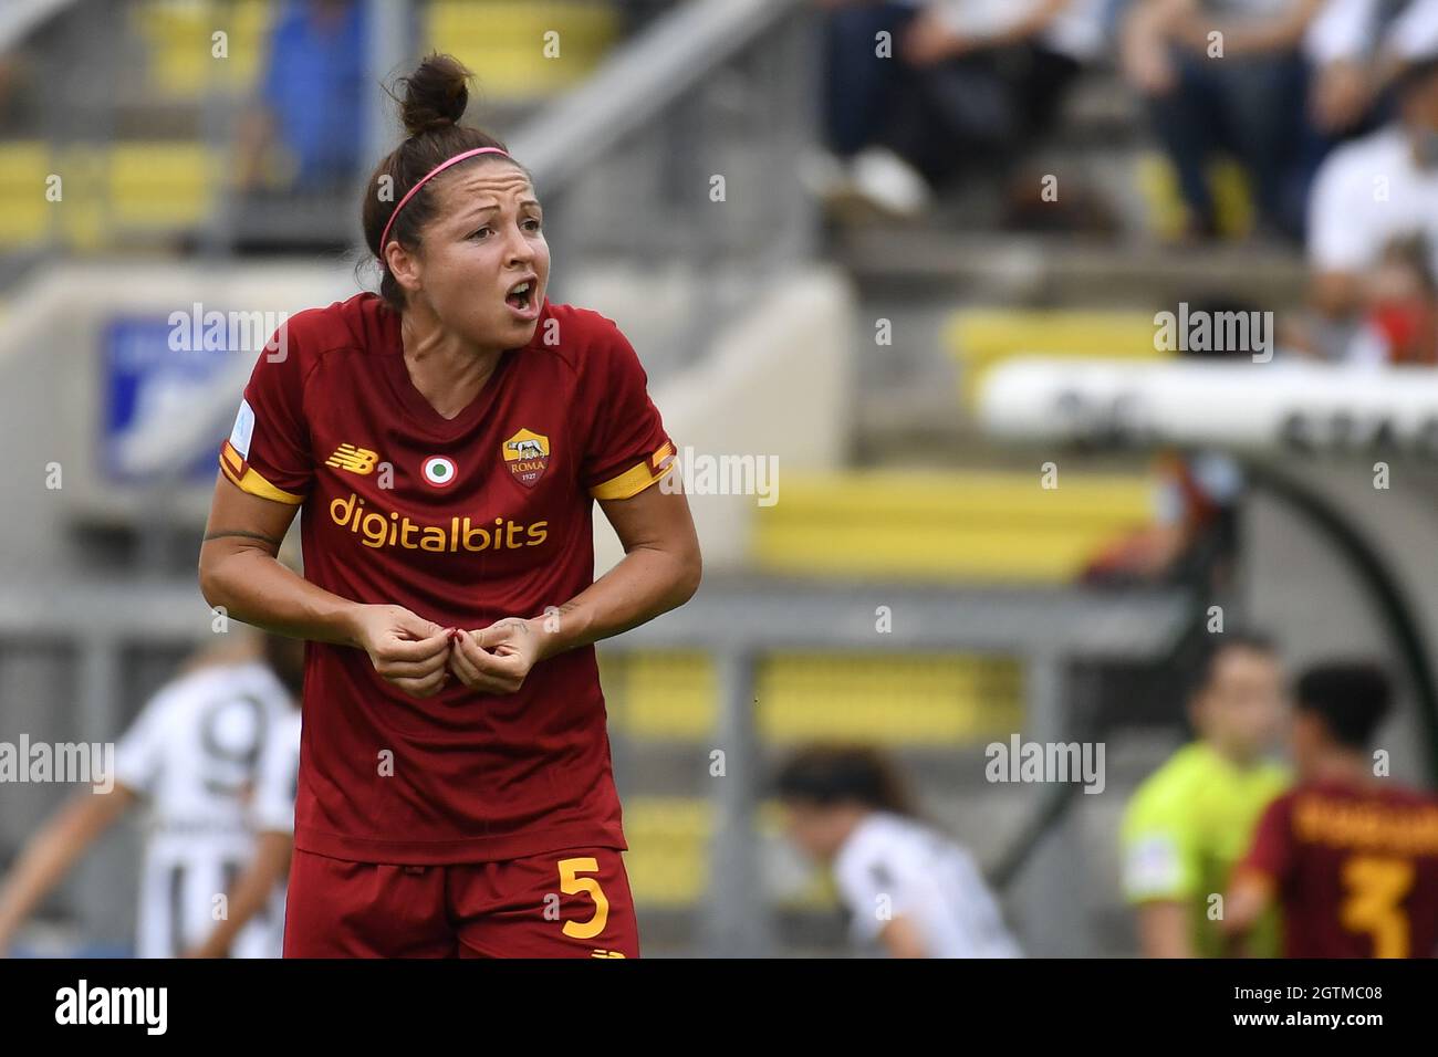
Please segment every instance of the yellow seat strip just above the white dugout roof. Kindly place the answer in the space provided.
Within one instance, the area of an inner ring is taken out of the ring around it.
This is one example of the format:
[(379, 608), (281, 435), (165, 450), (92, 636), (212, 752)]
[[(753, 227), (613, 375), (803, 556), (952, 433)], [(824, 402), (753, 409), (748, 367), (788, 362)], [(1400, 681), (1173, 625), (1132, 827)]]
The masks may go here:
[(1021, 355), (1094, 360), (1158, 360), (1153, 315), (1083, 309), (963, 309), (943, 328), (943, 344), (959, 361), (963, 404), (974, 408), (984, 375)]

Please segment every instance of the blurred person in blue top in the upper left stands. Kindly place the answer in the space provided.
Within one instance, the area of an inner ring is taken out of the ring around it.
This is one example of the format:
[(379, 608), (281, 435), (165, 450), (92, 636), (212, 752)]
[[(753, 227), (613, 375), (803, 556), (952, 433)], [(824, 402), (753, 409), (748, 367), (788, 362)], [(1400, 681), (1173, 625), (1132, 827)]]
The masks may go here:
[[(240, 125), (242, 191), (348, 190), (365, 145), (365, 36), (362, 3), (286, 3), (269, 42), (260, 96)], [(283, 148), (286, 174), (270, 186), (275, 144)]]

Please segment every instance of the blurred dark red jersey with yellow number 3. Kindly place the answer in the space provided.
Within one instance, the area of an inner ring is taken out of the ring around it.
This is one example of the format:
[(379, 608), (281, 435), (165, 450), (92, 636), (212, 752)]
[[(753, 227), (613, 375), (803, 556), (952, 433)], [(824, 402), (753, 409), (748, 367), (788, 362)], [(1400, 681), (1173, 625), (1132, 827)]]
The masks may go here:
[(1274, 886), (1287, 958), (1438, 955), (1438, 801), (1309, 782), (1274, 800), (1240, 870)]

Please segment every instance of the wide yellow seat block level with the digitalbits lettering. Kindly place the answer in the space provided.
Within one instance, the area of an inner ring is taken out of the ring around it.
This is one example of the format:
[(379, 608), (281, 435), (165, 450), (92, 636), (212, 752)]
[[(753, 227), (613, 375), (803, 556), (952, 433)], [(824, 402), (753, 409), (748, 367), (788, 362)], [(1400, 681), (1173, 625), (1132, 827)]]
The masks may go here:
[(1150, 521), (1140, 475), (854, 472), (791, 475), (756, 513), (761, 568), (844, 580), (1060, 584)]

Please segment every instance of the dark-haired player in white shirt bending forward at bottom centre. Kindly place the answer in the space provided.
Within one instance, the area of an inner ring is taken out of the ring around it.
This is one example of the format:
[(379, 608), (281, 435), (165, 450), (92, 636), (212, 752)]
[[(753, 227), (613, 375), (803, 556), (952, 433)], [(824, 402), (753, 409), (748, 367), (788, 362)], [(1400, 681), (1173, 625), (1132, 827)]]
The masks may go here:
[(907, 804), (890, 764), (815, 745), (779, 771), (789, 837), (831, 863), (854, 942), (894, 958), (1018, 958), (972, 856)]

